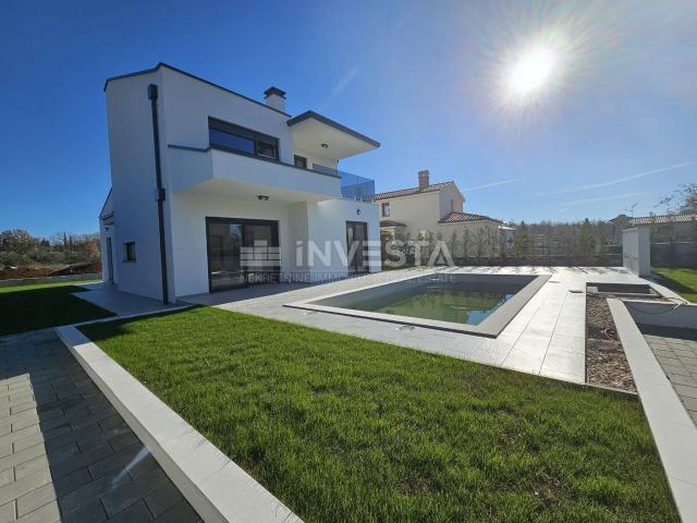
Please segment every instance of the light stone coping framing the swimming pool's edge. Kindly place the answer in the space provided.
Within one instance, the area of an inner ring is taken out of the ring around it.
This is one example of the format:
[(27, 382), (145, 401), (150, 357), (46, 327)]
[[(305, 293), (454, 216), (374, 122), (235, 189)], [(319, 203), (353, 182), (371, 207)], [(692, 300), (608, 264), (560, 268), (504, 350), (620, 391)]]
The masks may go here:
[[(350, 291), (334, 292), (325, 294), (322, 296), (316, 296), (307, 300), (299, 300), (296, 302), (286, 303), (284, 307), (302, 308), (306, 311), (315, 311), (321, 313), (339, 314), (343, 316), (353, 316), (357, 318), (377, 319), (380, 321), (388, 321), (392, 324), (411, 325), (415, 327), (426, 327), (430, 329), (448, 330), (451, 332), (461, 332), (465, 335), (476, 335), (487, 338), (497, 338), (503, 329), (513, 320), (513, 318), (525, 307), (527, 302), (547, 283), (552, 277), (551, 273), (545, 275), (525, 275), (533, 277), (533, 280), (527, 283), (523, 289), (515, 293), (515, 295), (497, 308), (490, 316), (485, 318), (478, 325), (462, 325), (452, 321), (441, 321), (437, 319), (415, 318), (412, 316), (400, 316), (396, 314), (382, 314), (371, 313), (368, 311), (356, 311), (353, 308), (334, 307), (330, 305), (319, 305), (316, 302), (328, 300), (330, 297), (337, 297), (346, 294), (353, 294), (369, 289), (377, 289), (380, 287), (391, 285), (401, 281), (407, 280), (420, 280), (424, 278), (431, 278), (433, 276), (448, 276), (449, 272), (441, 272), (438, 270), (430, 270), (419, 276), (405, 276), (404, 278), (398, 278), (390, 281), (374, 283), (370, 285), (360, 287)], [(472, 275), (486, 278), (515, 278), (518, 275), (482, 275), (480, 272), (456, 272), (452, 276)]]

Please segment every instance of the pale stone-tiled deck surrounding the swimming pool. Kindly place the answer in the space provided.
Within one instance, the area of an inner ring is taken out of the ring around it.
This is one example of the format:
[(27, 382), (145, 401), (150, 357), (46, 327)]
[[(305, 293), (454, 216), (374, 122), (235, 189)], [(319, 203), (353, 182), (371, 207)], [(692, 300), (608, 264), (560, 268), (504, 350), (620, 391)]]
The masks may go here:
[[(497, 338), (398, 325), (285, 306), (331, 293), (419, 276), (432, 269), (404, 269), (367, 275), (320, 285), (268, 284), (185, 296), (192, 304), (253, 314), (323, 330), (394, 343), (502, 368), (585, 382), (586, 283), (648, 283), (621, 267), (457, 267), (452, 273), (550, 275)], [(664, 295), (668, 289), (651, 283)]]

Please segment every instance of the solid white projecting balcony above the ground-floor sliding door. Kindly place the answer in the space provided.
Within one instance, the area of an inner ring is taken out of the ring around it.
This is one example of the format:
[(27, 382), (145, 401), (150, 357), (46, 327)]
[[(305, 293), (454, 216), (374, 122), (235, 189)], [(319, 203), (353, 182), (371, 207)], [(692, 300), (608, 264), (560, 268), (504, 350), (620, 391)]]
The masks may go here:
[(302, 169), (211, 147), (170, 145), (168, 154), (175, 193), (235, 199), (267, 195), (288, 203), (321, 202), (343, 194), (344, 179), (337, 171)]

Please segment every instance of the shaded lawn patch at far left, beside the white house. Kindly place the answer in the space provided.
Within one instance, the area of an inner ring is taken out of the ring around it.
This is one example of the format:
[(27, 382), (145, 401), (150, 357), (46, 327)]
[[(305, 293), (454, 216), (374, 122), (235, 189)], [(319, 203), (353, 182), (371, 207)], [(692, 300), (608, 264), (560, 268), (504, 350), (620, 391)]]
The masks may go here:
[(73, 292), (75, 281), (0, 287), (0, 336), (113, 316)]

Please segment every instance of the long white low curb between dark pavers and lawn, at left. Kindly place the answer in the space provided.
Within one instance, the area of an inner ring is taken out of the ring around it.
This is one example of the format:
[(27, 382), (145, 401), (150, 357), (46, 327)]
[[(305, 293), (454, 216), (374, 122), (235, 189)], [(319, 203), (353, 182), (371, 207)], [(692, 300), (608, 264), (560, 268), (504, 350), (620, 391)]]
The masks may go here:
[(302, 523), (75, 326), (54, 330), (206, 523)]

